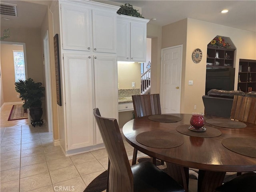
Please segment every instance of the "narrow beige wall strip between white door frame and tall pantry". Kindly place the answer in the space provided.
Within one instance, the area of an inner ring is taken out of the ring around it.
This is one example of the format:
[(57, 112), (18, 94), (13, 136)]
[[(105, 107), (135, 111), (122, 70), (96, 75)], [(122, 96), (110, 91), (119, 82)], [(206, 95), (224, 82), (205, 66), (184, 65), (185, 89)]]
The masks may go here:
[[(42, 40), (42, 54), (44, 54), (44, 36), (48, 31), (48, 40), (49, 40), (49, 52), (50, 52), (50, 79), (51, 79), (51, 100), (52, 100), (52, 132), (54, 140), (59, 139), (58, 131), (58, 112), (57, 112), (57, 96), (56, 96), (56, 79), (55, 79), (55, 60), (54, 60), (54, 44), (53, 44), (53, 22), (52, 14), (50, 10), (46, 12), (44, 20), (41, 26), (41, 40)], [(43, 66), (43, 71), (45, 73), (45, 66)], [(45, 78), (45, 74), (44, 74)], [(45, 82), (45, 79), (44, 79)], [(47, 106), (46, 106), (47, 109)], [(48, 122), (48, 120), (47, 120)]]

